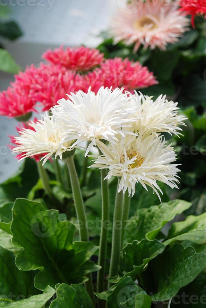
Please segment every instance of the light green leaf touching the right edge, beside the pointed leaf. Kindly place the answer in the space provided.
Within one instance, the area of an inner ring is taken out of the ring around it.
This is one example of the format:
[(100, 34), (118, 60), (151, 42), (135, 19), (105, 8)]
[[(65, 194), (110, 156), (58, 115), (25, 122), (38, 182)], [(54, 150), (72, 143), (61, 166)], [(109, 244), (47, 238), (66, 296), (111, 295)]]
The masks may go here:
[(171, 245), (175, 241), (183, 240), (189, 240), (199, 245), (205, 244), (205, 222), (206, 213), (203, 213), (199, 216), (188, 216), (183, 222), (173, 223), (164, 244)]

